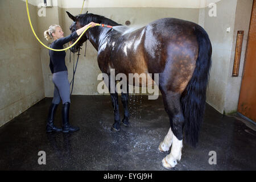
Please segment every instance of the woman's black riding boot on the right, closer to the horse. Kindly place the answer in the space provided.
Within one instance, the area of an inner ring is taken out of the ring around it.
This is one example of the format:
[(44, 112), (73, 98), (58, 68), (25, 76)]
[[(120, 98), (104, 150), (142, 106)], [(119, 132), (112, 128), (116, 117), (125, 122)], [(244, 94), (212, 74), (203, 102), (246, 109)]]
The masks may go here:
[(62, 107), (62, 119), (63, 119), (63, 132), (73, 132), (79, 130), (79, 127), (72, 127), (69, 125), (69, 102), (65, 102)]

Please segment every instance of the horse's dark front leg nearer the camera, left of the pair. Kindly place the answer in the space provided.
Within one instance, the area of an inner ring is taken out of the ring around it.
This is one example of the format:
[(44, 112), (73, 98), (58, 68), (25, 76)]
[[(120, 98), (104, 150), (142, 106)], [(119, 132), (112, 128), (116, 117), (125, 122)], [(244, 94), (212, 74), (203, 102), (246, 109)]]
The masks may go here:
[(114, 124), (111, 128), (111, 131), (115, 132), (115, 131), (120, 130), (118, 93), (115, 91), (115, 84), (114, 84), (114, 89), (111, 89), (110, 80), (111, 79), (109, 78), (109, 92), (110, 92), (110, 97), (111, 97), (111, 101), (112, 101), (112, 106), (113, 106), (113, 109), (114, 109)]

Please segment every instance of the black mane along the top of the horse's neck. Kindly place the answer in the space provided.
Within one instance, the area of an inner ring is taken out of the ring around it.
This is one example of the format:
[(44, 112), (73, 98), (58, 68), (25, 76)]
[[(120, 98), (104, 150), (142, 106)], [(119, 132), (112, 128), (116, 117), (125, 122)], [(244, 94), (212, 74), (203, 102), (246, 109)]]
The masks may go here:
[(83, 26), (85, 26), (86, 24), (88, 24), (90, 22), (103, 23), (103, 24), (108, 24), (110, 26), (121, 26), (122, 25), (117, 22), (114, 22), (111, 19), (105, 18), (104, 16), (96, 15), (96, 14), (92, 14), (92, 13), (80, 14), (77, 16), (77, 19), (79, 19), (79, 22)]

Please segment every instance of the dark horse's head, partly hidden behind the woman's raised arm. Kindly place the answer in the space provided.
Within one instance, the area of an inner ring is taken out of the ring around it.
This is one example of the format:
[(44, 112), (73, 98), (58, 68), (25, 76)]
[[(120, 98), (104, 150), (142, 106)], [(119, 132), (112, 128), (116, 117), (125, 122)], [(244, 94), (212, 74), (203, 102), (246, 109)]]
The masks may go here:
[[(71, 26), (69, 27), (69, 30), (71, 30), (71, 32), (74, 32), (76, 30), (78, 30), (79, 28), (84, 27), (86, 24), (86, 22), (82, 22), (81, 18), (79, 16), (73, 16), (72, 14), (70, 14), (68, 11), (66, 11), (69, 18), (71, 18), (73, 20), (73, 23), (71, 24)], [(86, 12), (86, 14), (88, 13), (88, 11)], [(72, 40), (72, 44), (76, 42), (77, 39)], [(79, 48), (82, 46), (82, 43), (86, 42), (86, 40), (88, 40), (88, 38), (86, 37), (86, 35), (84, 34), (81, 39), (79, 40), (79, 42), (76, 43), (75, 46), (71, 47), (71, 51), (72, 52), (77, 52), (79, 51)]]

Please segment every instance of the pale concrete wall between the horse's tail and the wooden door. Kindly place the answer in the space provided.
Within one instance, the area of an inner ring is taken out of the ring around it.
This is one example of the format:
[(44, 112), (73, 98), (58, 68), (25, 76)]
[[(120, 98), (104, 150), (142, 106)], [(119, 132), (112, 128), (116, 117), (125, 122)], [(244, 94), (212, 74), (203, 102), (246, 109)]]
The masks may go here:
[[(199, 11), (199, 22), (208, 32), (213, 48), (207, 102), (220, 113), (233, 113), (237, 110), (252, 3), (253, 0), (217, 2), (216, 17), (208, 15), (208, 7)], [(226, 28), (229, 27), (230, 32), (227, 32)], [(239, 76), (232, 77), (238, 30), (245, 31), (243, 51)]]

